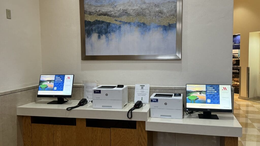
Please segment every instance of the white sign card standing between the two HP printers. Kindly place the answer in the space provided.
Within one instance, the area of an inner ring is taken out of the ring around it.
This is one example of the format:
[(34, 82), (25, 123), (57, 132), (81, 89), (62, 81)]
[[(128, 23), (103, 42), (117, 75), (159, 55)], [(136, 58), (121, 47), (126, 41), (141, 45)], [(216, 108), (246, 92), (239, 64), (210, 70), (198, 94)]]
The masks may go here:
[(149, 103), (149, 84), (135, 84), (135, 92), (134, 92), (134, 103), (137, 101), (142, 101), (144, 104)]

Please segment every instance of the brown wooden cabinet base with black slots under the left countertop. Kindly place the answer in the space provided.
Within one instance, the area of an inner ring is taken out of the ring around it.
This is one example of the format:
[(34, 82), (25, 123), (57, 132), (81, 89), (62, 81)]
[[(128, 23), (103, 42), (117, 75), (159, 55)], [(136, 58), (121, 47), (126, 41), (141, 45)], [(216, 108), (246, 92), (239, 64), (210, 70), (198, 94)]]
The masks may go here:
[(147, 146), (147, 131), (144, 121), (24, 116), (23, 141), (24, 146)]

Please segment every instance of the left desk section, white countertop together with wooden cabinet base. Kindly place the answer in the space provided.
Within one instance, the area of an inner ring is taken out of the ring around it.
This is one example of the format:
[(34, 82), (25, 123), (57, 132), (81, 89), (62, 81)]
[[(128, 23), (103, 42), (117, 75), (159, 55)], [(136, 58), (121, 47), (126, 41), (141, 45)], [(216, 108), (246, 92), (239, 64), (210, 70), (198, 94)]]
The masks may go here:
[[(47, 104), (42, 99), (17, 107), (23, 116), (24, 146), (94, 146), (148, 145), (145, 121), (150, 116), (149, 104), (135, 109), (133, 118), (126, 116), (134, 104), (123, 109), (93, 109), (92, 103), (67, 111), (79, 103)], [(148, 134), (149, 135), (149, 134)]]

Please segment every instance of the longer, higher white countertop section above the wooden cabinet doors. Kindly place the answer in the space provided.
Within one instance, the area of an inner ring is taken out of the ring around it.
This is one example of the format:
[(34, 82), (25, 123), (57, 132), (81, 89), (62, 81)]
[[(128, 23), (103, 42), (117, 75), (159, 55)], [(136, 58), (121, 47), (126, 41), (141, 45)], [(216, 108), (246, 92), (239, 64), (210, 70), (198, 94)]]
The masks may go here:
[[(43, 116), (43, 117), (67, 117), (67, 118), (90, 118), (90, 119), (113, 119), (129, 120), (126, 116), (134, 103), (128, 103), (123, 109), (94, 109), (92, 103), (67, 111), (66, 108), (73, 107), (79, 100), (70, 100), (63, 104), (47, 104), (51, 99), (21, 105), (16, 108), (17, 115)], [(150, 105), (146, 104), (140, 109), (133, 111), (133, 121), (147, 121), (150, 116)]]

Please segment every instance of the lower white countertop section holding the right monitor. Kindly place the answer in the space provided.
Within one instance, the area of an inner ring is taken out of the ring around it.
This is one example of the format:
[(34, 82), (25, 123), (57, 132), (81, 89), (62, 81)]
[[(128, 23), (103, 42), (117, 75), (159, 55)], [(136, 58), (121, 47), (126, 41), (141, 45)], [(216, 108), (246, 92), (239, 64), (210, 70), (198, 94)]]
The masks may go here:
[[(199, 119), (198, 114), (185, 115), (183, 119), (152, 118), (146, 121), (145, 130), (242, 137), (242, 126), (234, 115), (217, 114), (219, 120)], [(189, 138), (188, 138), (189, 139)]]

